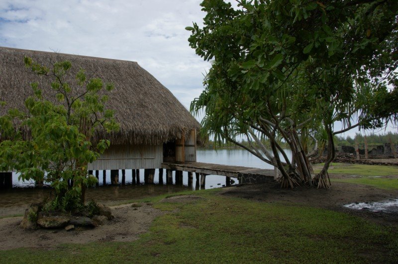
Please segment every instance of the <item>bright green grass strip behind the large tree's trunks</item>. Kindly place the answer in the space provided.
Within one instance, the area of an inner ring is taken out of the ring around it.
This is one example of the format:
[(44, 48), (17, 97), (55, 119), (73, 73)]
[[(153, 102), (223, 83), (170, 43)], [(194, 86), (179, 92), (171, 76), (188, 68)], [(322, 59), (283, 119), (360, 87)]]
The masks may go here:
[[(314, 172), (318, 173), (322, 169), (324, 163), (314, 165)], [(361, 176), (388, 176), (398, 175), (397, 166), (382, 166), (382, 165), (365, 165), (365, 164), (346, 164), (346, 163), (331, 163), (328, 170), (329, 173), (351, 174)]]

